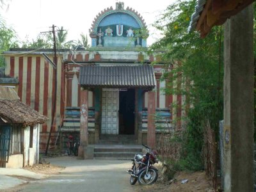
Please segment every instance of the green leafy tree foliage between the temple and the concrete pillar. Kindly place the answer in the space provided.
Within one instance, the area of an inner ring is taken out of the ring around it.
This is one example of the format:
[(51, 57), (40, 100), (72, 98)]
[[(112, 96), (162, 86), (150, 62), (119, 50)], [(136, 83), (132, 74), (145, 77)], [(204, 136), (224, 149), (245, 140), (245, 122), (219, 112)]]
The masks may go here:
[[(168, 6), (154, 24), (163, 37), (150, 47), (150, 52), (160, 52), (163, 61), (172, 66), (162, 77), (172, 87), (165, 90), (166, 94), (182, 94), (186, 96), (183, 107), (190, 106), (186, 111), (180, 168), (199, 170), (204, 164), (205, 124), (210, 122), (217, 135), (219, 120), (223, 119), (223, 44), (220, 27), (213, 28), (204, 39), (198, 32), (188, 33), (194, 11), (195, 1), (177, 1)], [(181, 86), (177, 86), (178, 77)]]

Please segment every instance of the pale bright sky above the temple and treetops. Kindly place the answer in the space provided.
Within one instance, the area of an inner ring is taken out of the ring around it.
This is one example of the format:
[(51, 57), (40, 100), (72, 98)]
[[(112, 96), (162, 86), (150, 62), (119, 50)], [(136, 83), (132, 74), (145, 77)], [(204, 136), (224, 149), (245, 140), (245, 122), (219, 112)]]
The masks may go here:
[[(175, 0), (122, 0), (124, 7), (127, 6), (138, 11), (145, 19), (150, 31), (147, 44), (156, 41), (160, 32), (154, 29), (151, 24), (156, 21), (166, 7)], [(67, 40), (78, 40), (81, 33), (87, 34), (91, 28), (96, 15), (113, 6), (115, 9), (116, 0), (5, 0), (8, 10), (0, 10), (1, 17), (4, 18), (8, 26), (17, 32), (20, 40), (25, 40), (26, 36), (31, 40), (42, 31), (51, 30), (52, 24), (67, 29)], [(90, 42), (90, 40), (89, 40)]]

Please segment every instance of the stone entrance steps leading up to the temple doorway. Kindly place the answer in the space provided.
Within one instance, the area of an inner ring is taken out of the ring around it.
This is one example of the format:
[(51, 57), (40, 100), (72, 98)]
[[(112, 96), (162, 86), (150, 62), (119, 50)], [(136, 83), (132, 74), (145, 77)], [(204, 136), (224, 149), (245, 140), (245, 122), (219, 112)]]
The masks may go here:
[(142, 146), (136, 145), (133, 135), (101, 135), (95, 145), (95, 159), (132, 159), (142, 153)]

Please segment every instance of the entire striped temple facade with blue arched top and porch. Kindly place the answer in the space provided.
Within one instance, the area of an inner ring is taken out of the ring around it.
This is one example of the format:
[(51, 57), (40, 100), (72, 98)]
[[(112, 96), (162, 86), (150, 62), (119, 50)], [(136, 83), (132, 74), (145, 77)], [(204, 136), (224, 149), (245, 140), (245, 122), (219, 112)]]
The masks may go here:
[[(170, 68), (164, 68), (157, 54), (147, 55), (145, 21), (124, 3), (116, 3), (95, 17), (89, 31), (89, 49), (58, 50), (56, 75), (42, 56), (44, 52), (52, 60), (51, 49), (4, 52), (5, 74), (19, 80), (20, 100), (49, 118), (40, 129), (40, 148), (49, 137), (55, 88), (50, 148), (54, 143), (65, 147), (69, 134), (82, 145), (127, 135), (134, 143), (155, 147), (161, 132), (172, 131), (172, 118), (181, 116), (182, 97), (162, 91), (168, 82), (160, 77)], [(180, 106), (176, 111), (173, 103)]]

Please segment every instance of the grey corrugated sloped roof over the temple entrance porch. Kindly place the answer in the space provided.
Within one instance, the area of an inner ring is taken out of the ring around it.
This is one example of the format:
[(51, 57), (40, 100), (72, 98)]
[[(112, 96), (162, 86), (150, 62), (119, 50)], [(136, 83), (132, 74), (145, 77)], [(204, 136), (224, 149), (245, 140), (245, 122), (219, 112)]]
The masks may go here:
[(79, 83), (83, 87), (94, 88), (147, 88), (156, 86), (154, 69), (150, 65), (118, 65), (81, 67)]

